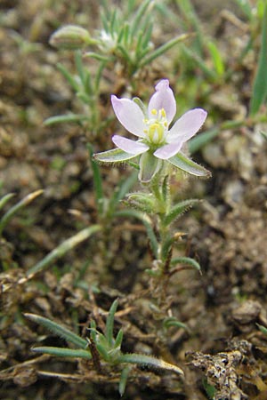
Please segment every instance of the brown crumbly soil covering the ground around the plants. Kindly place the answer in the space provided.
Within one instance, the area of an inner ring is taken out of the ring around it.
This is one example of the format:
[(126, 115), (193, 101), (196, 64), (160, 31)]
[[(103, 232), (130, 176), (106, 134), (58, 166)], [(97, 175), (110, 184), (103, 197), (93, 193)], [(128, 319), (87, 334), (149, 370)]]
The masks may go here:
[[(210, 84), (208, 96), (198, 94), (199, 107), (211, 110), (207, 128), (246, 115), (255, 74), (256, 53), (237, 68), (236, 54), (247, 40), (246, 20), (231, 1), (223, 10), (237, 20), (224, 19), (218, 3), (211, 8), (209, 2), (195, 2), (196, 11), (223, 56), (232, 54), (228, 63), (236, 69), (233, 79)], [(77, 124), (44, 126), (44, 120), (82, 112), (56, 68), (61, 62), (73, 69), (73, 53), (57, 52), (48, 44), (49, 37), (66, 23), (98, 28), (99, 5), (11, 0), (2, 2), (1, 20), (0, 192), (14, 194), (4, 211), (40, 188), (44, 192), (10, 220), (0, 239), (0, 398), (120, 398), (117, 368), (104, 365), (98, 372), (91, 362), (34, 354), (31, 348), (36, 345), (66, 343), (24, 317), (46, 316), (86, 336), (92, 319), (103, 329), (107, 311), (118, 298), (115, 330), (124, 330), (123, 351), (158, 356), (185, 373), (182, 379), (171, 372), (134, 367), (125, 399), (202, 400), (213, 388), (210, 398), (217, 400), (266, 399), (267, 337), (257, 325), (267, 326), (267, 142), (260, 133), (266, 132), (266, 124), (224, 129), (198, 151), (194, 159), (212, 172), (210, 180), (174, 181), (173, 190), (182, 198), (202, 198), (175, 225), (177, 232), (187, 232), (175, 252), (198, 260), (201, 275), (191, 269), (175, 274), (160, 312), (151, 308), (157, 291), (151, 292), (145, 272), (151, 265), (150, 248), (136, 220), (117, 220), (108, 238), (93, 236), (25, 280), (28, 268), (97, 219), (88, 132)], [(171, 28), (162, 23), (159, 33), (170, 38)], [(153, 64), (145, 81), (140, 83), (139, 77), (135, 94), (151, 93), (155, 81), (166, 77), (164, 57)], [(174, 74), (170, 81), (182, 90)], [(111, 116), (109, 95), (120, 86), (121, 78), (109, 71), (101, 92), (103, 117)], [(95, 151), (111, 148), (114, 124), (105, 139), (89, 138)], [(101, 166), (101, 172), (109, 197), (131, 168)], [(187, 329), (164, 329), (167, 310)]]

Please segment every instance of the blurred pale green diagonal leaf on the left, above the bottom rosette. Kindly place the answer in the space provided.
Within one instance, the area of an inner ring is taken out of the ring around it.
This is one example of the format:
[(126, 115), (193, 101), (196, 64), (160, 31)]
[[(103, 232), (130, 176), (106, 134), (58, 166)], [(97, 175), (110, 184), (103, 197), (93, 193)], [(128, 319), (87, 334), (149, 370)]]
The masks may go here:
[(85, 228), (78, 232), (76, 235), (69, 237), (64, 242), (62, 242), (58, 247), (53, 249), (52, 252), (49, 252), (43, 260), (36, 263), (36, 265), (32, 268), (29, 268), (27, 271), (27, 276), (33, 276), (37, 272), (43, 270), (44, 268), (51, 265), (55, 260), (61, 258), (66, 252), (73, 249), (80, 244), (88, 237), (92, 236), (94, 233), (99, 232), (101, 230), (100, 225), (93, 225), (92, 227)]

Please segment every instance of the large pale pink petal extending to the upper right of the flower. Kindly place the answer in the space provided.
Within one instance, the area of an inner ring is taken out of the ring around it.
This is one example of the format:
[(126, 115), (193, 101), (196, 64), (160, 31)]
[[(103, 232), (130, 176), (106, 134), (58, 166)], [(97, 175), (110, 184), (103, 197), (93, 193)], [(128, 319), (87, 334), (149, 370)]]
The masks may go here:
[(206, 120), (207, 112), (202, 108), (193, 108), (179, 118), (168, 132), (166, 140), (181, 140), (184, 143), (199, 131)]

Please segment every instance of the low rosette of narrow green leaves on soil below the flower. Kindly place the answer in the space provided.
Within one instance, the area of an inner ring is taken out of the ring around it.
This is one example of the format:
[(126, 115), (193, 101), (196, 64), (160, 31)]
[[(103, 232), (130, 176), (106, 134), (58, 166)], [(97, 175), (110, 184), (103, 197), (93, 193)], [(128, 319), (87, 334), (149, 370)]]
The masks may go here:
[(96, 329), (95, 322), (92, 321), (91, 327), (89, 328), (90, 334), (86, 339), (81, 338), (76, 333), (70, 332), (68, 329), (44, 318), (43, 316), (25, 314), (25, 316), (31, 321), (43, 325), (51, 332), (61, 336), (77, 347), (77, 349), (36, 347), (32, 348), (32, 350), (36, 353), (50, 354), (53, 356), (76, 357), (92, 360), (94, 368), (99, 373), (103, 373), (103, 364), (108, 364), (110, 366), (119, 365), (121, 367), (121, 376), (118, 390), (121, 396), (125, 393), (126, 381), (128, 374), (131, 371), (131, 364), (148, 365), (152, 368), (168, 370), (183, 376), (183, 372), (178, 366), (166, 363), (154, 356), (146, 356), (136, 353), (122, 353), (121, 344), (123, 340), (123, 331), (120, 329), (117, 332), (116, 338), (113, 336), (114, 318), (117, 305), (118, 301), (115, 300), (109, 309), (105, 332), (99, 332)]

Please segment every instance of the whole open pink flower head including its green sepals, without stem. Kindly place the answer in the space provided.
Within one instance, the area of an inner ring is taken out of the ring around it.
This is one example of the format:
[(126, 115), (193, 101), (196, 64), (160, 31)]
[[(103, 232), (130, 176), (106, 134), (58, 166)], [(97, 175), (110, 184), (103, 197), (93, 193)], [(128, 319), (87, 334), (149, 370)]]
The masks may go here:
[(181, 152), (182, 145), (204, 124), (207, 113), (202, 108), (190, 109), (169, 128), (176, 114), (176, 102), (167, 79), (156, 85), (146, 111), (137, 101), (118, 99), (114, 94), (111, 103), (120, 124), (138, 140), (114, 135), (112, 141), (117, 149), (95, 155), (97, 160), (114, 163), (141, 156), (139, 179), (142, 181), (150, 181), (164, 162), (194, 175), (209, 174)]

